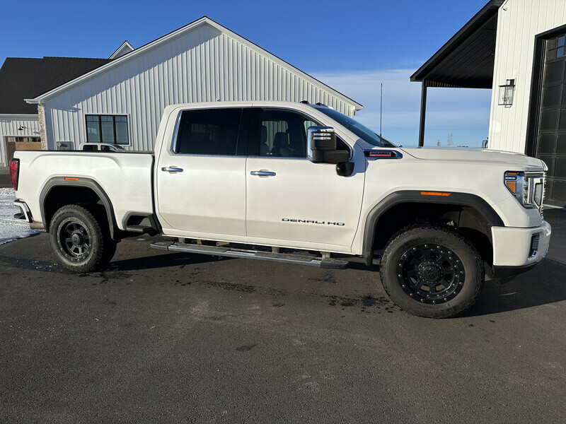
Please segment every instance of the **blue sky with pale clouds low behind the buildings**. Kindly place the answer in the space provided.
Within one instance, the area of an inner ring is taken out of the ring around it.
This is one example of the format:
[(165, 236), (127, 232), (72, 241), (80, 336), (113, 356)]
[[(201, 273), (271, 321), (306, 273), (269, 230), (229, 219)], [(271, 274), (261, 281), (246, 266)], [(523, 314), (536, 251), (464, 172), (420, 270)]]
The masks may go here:
[[(246, 37), (365, 105), (357, 119), (383, 136), (417, 142), (420, 83), (409, 77), (487, 0), (405, 1), (6, 1), (6, 57), (109, 57), (201, 16)], [(0, 93), (1, 95), (1, 93)], [(479, 146), (487, 137), (491, 90), (429, 89), (425, 144)]]

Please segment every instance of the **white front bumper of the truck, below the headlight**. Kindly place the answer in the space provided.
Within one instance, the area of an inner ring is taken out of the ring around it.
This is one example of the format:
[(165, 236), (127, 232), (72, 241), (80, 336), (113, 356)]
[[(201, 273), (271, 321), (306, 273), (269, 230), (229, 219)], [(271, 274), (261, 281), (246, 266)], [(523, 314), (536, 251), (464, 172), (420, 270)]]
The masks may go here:
[(552, 229), (543, 221), (540, 227), (492, 227), (493, 273), (508, 280), (529, 271), (546, 256)]

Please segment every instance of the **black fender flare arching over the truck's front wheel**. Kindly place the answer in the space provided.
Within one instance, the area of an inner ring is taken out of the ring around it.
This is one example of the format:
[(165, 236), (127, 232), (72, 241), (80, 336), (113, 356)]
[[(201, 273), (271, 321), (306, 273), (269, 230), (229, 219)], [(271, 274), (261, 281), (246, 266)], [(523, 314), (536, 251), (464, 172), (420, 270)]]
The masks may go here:
[(374, 261), (374, 237), (376, 224), (379, 218), (395, 205), (403, 203), (425, 203), (425, 204), (451, 204), (459, 206), (470, 206), (480, 212), (492, 227), (503, 227), (501, 217), (480, 196), (470, 193), (450, 192), (449, 196), (423, 195), (420, 190), (401, 190), (386, 196), (385, 199), (376, 204), (369, 211), (364, 225), (364, 244), (362, 252), (364, 262), (371, 266)]

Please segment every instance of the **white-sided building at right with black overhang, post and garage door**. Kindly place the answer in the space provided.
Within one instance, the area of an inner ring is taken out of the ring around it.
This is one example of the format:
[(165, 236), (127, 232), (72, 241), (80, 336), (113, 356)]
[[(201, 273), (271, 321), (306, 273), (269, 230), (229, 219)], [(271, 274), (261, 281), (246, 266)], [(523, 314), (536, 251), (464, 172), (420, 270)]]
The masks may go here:
[(491, 0), (412, 76), (427, 87), (491, 88), (489, 148), (548, 165), (546, 199), (566, 206), (566, 1)]

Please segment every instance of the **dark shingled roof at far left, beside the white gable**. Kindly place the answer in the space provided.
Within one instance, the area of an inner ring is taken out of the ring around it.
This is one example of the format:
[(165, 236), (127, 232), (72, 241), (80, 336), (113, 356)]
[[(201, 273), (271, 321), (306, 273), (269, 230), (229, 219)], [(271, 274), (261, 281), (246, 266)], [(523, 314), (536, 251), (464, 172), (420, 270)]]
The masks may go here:
[(7, 57), (0, 68), (0, 113), (37, 114), (37, 107), (24, 99), (61, 86), (109, 61), (84, 57)]

